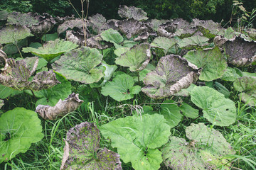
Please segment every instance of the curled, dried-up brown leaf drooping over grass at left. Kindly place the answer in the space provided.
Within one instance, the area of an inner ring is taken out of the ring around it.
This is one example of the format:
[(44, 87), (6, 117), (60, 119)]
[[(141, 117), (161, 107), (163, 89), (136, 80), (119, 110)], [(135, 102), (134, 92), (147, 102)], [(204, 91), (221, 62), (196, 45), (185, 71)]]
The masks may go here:
[(38, 105), (36, 107), (36, 113), (41, 115), (42, 118), (46, 120), (55, 120), (56, 118), (61, 118), (64, 115), (75, 111), (81, 104), (82, 100), (78, 98), (79, 94), (70, 94), (65, 100), (59, 100), (58, 103), (52, 107), (48, 105)]

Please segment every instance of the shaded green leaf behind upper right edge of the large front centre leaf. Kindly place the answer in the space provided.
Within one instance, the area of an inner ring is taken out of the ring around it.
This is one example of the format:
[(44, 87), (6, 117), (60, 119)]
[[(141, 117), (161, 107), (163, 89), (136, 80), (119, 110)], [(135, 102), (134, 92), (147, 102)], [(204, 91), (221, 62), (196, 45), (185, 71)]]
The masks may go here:
[(161, 115), (164, 115), (166, 119), (166, 123), (171, 127), (174, 128), (183, 118), (183, 115), (180, 113), (180, 109), (176, 105), (175, 101), (164, 101), (161, 104)]

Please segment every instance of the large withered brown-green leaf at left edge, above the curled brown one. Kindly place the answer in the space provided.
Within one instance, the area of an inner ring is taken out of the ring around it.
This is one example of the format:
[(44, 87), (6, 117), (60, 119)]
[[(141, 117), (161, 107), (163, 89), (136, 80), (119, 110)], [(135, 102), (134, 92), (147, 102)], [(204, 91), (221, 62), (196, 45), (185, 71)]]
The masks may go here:
[(29, 80), (36, 71), (38, 59), (31, 69), (27, 67), (25, 60), (15, 61), (14, 59), (9, 59), (8, 64), (9, 67), (0, 74), (0, 83), (4, 86), (9, 86), (11, 89), (19, 91), (24, 89), (39, 91), (60, 83), (52, 70), (39, 72), (33, 77), (32, 81)]

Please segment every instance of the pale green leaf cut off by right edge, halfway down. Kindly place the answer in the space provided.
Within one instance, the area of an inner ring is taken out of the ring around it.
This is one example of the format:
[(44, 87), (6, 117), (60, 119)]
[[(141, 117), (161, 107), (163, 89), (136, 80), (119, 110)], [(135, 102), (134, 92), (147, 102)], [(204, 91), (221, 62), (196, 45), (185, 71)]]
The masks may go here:
[(256, 77), (240, 77), (234, 81), (235, 90), (244, 103), (249, 106), (256, 106)]

